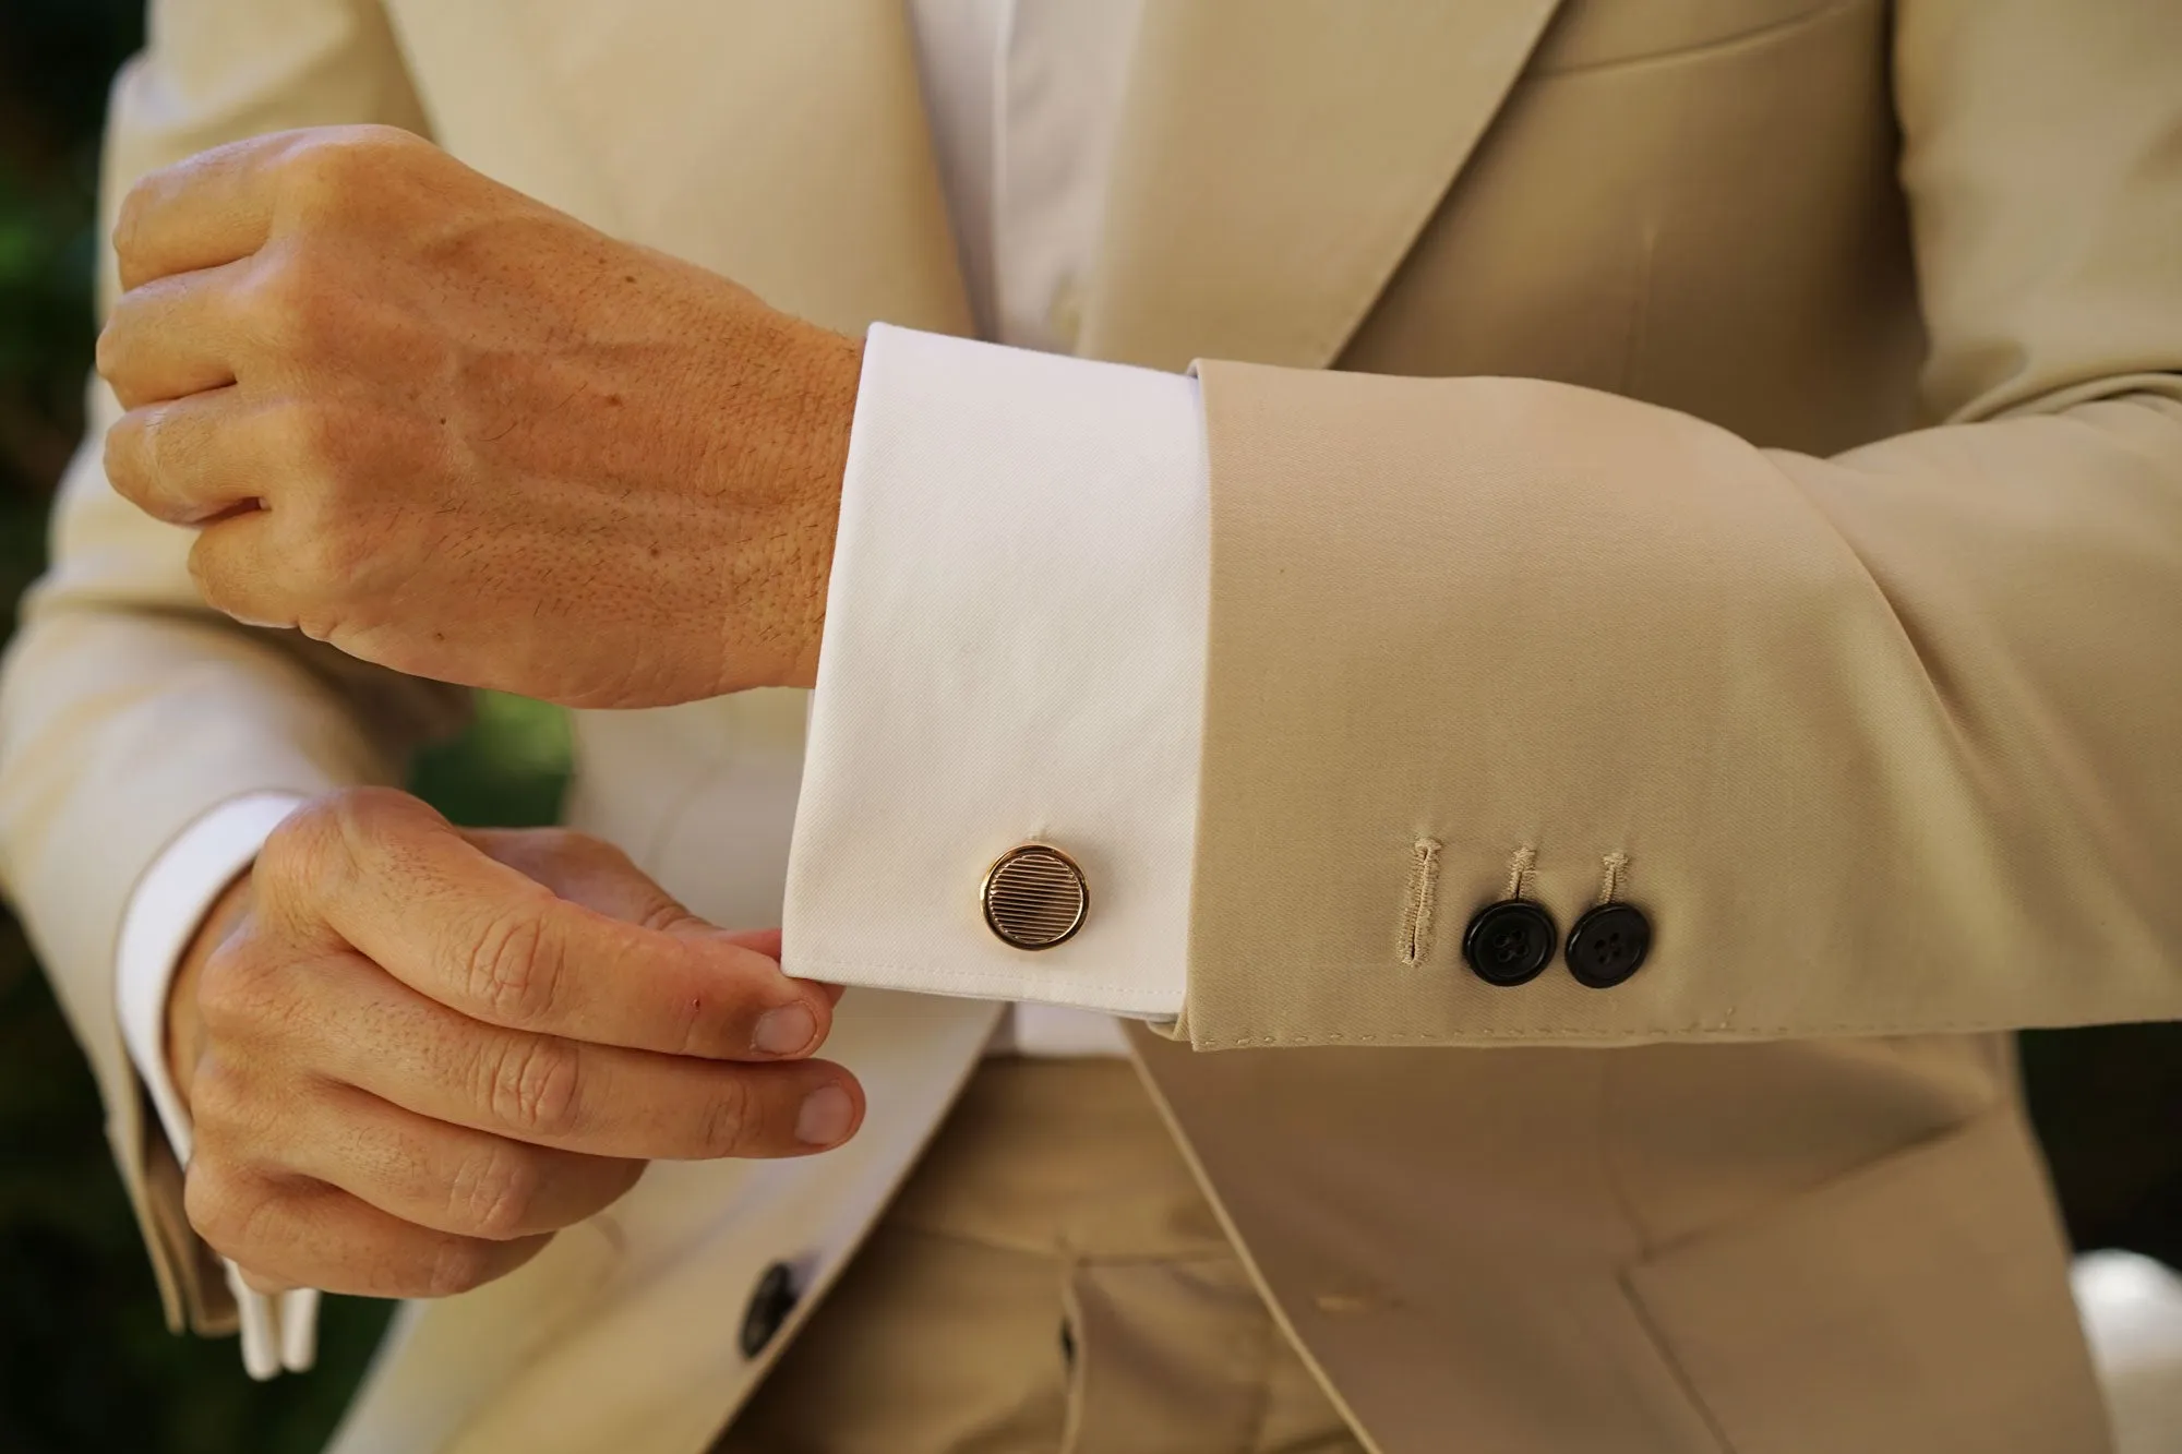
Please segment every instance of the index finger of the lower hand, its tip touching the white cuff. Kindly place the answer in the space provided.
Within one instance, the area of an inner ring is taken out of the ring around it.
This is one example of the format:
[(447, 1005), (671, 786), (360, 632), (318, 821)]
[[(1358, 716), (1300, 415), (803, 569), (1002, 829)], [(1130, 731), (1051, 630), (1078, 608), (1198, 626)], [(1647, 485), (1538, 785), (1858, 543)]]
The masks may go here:
[(731, 1061), (801, 1057), (825, 1039), (820, 987), (720, 930), (646, 928), (563, 899), (406, 795), (356, 797), (340, 817), (327, 926), (471, 1020)]

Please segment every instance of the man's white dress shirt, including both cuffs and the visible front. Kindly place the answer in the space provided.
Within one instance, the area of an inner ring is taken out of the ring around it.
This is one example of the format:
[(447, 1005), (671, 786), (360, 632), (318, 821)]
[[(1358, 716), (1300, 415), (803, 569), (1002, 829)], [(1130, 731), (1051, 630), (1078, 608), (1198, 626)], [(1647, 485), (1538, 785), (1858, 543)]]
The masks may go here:
[[(912, 0), (934, 155), (980, 332), (873, 327), (790, 851), (788, 969), (1017, 1000), (1002, 1048), (1119, 1054), (1111, 1013), (1183, 1004), (1209, 502), (1196, 380), (1074, 345), (1141, 0)], [(299, 799), (190, 825), (118, 941), (122, 1037), (175, 1155), (168, 987), (220, 889)], [(1067, 945), (984, 928), (984, 867), (1063, 845)], [(903, 845), (914, 851), (903, 854)], [(1108, 1013), (1102, 1013), (1108, 1011)], [(312, 1360), (316, 1292), (249, 1292), (255, 1378)]]

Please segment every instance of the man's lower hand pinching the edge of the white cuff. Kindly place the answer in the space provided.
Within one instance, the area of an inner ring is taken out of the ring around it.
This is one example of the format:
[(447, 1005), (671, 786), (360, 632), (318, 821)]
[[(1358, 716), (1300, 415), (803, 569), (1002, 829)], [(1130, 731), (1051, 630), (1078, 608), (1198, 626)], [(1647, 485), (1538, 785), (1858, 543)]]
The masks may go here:
[(388, 790), (290, 817), (168, 1009), (190, 1223), (262, 1290), (443, 1297), (655, 1157), (836, 1146), (838, 991), (694, 919), (613, 847), (458, 832)]

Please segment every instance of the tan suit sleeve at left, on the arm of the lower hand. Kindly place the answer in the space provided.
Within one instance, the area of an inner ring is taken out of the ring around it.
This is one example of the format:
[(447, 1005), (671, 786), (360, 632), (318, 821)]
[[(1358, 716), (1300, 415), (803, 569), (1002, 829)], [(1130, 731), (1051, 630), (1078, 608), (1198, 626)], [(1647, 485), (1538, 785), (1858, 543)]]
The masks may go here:
[[(148, 50), (116, 87), (105, 216), (135, 177), (233, 138), (377, 120), (421, 131), (393, 37), (369, 0), (153, 4)], [(113, 262), (103, 262), (111, 299)], [(100, 469), (118, 408), (61, 485), (52, 568), (0, 672), (0, 884), (89, 1054), (107, 1133), (144, 1225), (168, 1319), (203, 1330), (231, 1299), (181, 1216), (181, 1177), (146, 1131), (113, 1013), (122, 908), (159, 849), (207, 808), (260, 788), (384, 782), (406, 744), (458, 720), (460, 696), (207, 611), (190, 535), (122, 502)]]

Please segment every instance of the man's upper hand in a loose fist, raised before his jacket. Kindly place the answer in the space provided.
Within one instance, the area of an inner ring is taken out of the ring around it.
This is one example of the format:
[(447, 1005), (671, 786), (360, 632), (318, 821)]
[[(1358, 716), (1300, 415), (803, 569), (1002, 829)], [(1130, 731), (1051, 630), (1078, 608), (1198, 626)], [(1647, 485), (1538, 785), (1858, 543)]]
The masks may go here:
[(384, 127), (153, 172), (113, 245), (107, 474), (214, 607), (578, 707), (814, 681), (855, 341)]

